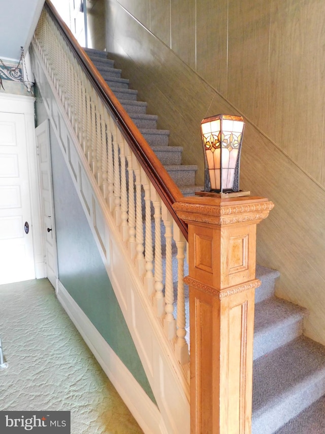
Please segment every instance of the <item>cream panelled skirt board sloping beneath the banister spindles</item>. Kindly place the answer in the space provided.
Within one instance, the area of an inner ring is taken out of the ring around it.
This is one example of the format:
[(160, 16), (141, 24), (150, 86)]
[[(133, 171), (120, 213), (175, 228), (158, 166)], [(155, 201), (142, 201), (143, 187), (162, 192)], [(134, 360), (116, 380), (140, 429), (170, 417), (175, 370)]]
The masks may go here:
[[(106, 267), (125, 322), (169, 434), (190, 432), (189, 386), (167, 342), (134, 264), (107, 210), (88, 162), (61, 106), (53, 83), (37, 49), (32, 47), (33, 67), (51, 126), (70, 172), (90, 230)], [(177, 403), (177, 406), (175, 406)]]

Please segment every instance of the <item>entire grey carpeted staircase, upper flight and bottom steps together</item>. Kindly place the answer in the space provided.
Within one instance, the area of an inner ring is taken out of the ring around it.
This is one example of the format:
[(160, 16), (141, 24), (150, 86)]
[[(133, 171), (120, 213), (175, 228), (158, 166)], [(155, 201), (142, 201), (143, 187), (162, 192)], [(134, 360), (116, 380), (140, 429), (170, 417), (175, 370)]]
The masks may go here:
[[(169, 146), (169, 131), (157, 129), (157, 116), (146, 113), (107, 53), (86, 52), (182, 193), (202, 189), (195, 186), (197, 166), (181, 164), (182, 148)], [(256, 267), (262, 285), (255, 295), (252, 434), (323, 434), (325, 349), (302, 335), (306, 309), (274, 296), (278, 275)]]

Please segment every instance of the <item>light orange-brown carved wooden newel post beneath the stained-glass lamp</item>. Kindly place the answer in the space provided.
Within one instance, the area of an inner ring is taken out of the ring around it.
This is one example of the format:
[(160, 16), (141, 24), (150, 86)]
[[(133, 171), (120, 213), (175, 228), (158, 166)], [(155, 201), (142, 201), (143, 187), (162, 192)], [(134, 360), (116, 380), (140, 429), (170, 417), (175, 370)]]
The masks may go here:
[(250, 434), (256, 224), (262, 197), (184, 197), (188, 224), (191, 434)]

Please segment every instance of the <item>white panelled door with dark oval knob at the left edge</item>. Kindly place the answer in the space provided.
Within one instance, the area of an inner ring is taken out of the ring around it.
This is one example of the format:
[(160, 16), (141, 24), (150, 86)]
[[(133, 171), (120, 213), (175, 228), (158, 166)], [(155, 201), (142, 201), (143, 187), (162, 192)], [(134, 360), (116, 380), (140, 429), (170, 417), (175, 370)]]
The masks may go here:
[(35, 279), (25, 117), (0, 111), (0, 284)]

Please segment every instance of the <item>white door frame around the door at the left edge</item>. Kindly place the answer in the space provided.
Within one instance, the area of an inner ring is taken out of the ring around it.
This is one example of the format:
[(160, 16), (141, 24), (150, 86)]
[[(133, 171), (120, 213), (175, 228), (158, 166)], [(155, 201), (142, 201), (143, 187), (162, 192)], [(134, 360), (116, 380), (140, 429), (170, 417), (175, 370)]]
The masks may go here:
[(41, 203), (35, 138), (35, 98), (0, 93), (0, 111), (24, 115), (34, 266), (35, 276), (37, 279), (40, 279), (46, 277), (46, 267), (41, 232)]

